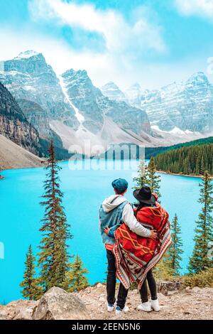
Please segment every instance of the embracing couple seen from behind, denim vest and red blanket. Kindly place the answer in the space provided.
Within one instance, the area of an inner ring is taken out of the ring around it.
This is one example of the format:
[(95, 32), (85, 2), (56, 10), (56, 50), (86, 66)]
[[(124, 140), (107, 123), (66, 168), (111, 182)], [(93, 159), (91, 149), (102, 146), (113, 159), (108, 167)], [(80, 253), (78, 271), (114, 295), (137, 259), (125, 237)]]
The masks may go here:
[[(124, 197), (127, 181), (119, 178), (112, 186), (114, 195), (104, 200), (99, 209), (100, 231), (108, 260), (107, 311), (114, 311), (115, 303), (116, 314), (129, 311), (125, 304), (133, 282), (138, 284), (141, 295), (138, 310), (160, 311), (152, 269), (171, 244), (168, 213), (147, 186), (133, 192), (138, 200), (135, 210)], [(116, 277), (121, 282), (117, 301)]]

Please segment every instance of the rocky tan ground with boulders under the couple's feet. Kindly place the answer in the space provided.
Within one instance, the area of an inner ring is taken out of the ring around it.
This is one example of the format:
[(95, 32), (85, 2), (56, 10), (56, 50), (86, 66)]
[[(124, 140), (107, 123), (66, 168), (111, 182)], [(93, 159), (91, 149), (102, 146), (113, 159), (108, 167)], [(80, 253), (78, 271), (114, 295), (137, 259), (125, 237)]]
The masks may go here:
[[(106, 310), (106, 286), (89, 286), (78, 293), (52, 288), (39, 301), (13, 301), (0, 305), (0, 320), (114, 320), (115, 313)], [(158, 282), (160, 312), (137, 310), (140, 296), (129, 291), (125, 320), (210, 320), (213, 319), (213, 289), (184, 289), (180, 282)]]

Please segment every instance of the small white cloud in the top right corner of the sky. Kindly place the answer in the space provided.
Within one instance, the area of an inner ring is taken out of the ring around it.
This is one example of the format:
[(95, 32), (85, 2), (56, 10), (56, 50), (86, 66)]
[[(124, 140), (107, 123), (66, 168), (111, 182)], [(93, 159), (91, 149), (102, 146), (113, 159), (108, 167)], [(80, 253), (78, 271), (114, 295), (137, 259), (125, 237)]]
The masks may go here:
[(213, 18), (213, 0), (175, 0), (180, 14)]

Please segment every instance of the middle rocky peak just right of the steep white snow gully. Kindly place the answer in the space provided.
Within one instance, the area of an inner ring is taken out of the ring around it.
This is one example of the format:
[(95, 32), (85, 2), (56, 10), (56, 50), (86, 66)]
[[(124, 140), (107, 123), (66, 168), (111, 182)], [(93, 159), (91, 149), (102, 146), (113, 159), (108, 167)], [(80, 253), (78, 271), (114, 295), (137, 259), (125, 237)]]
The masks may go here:
[(62, 80), (70, 100), (84, 117), (84, 126), (90, 131), (95, 133), (102, 129), (104, 118), (109, 117), (121, 128), (139, 136), (142, 131), (151, 134), (146, 112), (104, 97), (101, 90), (92, 85), (85, 70), (68, 70), (62, 75)]

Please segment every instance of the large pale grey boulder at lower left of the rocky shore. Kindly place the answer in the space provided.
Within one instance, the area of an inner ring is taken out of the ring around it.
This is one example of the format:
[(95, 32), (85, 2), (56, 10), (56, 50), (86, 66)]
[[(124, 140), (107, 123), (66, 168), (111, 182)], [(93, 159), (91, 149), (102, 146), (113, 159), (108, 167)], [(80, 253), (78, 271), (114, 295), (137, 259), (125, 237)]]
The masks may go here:
[(33, 320), (84, 320), (89, 314), (74, 293), (53, 287), (46, 292), (33, 313)]

